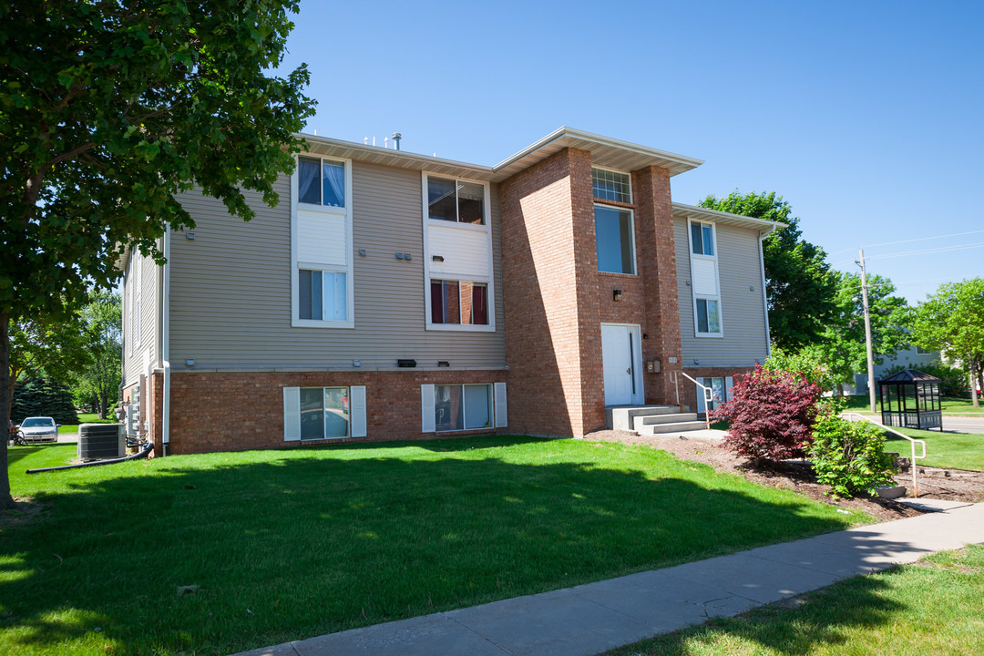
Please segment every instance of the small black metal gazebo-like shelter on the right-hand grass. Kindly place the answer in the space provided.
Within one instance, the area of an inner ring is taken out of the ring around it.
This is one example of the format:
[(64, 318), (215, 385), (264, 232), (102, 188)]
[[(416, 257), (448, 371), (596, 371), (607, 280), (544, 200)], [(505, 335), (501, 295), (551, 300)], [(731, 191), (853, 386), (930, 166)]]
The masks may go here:
[(943, 431), (940, 379), (915, 369), (904, 369), (878, 382), (882, 424)]

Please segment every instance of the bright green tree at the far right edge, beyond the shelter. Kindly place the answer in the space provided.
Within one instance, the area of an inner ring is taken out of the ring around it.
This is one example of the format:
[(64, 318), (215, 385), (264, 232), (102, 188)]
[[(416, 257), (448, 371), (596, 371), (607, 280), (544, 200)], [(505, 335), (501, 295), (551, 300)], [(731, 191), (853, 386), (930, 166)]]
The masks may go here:
[(984, 369), (984, 278), (948, 282), (920, 303), (912, 321), (912, 341), (947, 357), (965, 360), (970, 398), (979, 407), (977, 387)]

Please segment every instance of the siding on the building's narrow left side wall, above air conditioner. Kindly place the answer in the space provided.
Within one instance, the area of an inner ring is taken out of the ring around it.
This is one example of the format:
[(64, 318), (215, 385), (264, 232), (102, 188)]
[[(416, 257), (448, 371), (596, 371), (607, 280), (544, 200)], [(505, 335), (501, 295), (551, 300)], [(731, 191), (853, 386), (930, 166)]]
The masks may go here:
[[(141, 289), (141, 321), (140, 343), (137, 343), (136, 315), (130, 312), (129, 303), (137, 304), (136, 289), (131, 297), (128, 287), (136, 284), (136, 269), (140, 270)], [(148, 373), (147, 363), (154, 367), (157, 360), (157, 265), (153, 258), (143, 257), (139, 252), (130, 254), (130, 268), (123, 288), (123, 321), (125, 325), (124, 340), (130, 340), (129, 350), (124, 341), (123, 347), (123, 384), (130, 386), (138, 382), (138, 377)], [(134, 321), (131, 321), (133, 319)], [(127, 353), (129, 352), (129, 356)]]

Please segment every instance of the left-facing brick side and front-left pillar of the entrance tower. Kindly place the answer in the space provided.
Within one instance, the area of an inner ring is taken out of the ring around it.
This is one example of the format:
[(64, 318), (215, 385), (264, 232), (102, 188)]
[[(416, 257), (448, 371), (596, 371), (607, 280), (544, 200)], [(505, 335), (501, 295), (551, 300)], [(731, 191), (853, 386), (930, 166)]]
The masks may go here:
[[(586, 182), (584, 169), (586, 167)], [(514, 432), (584, 435), (582, 326), (578, 279), (596, 269), (593, 228), (583, 232), (590, 162), (564, 149), (499, 186), (509, 412)], [(575, 217), (575, 214), (578, 214)], [(591, 211), (593, 222), (593, 211)], [(587, 260), (585, 264), (584, 260)], [(598, 337), (600, 343), (600, 336)], [(588, 402), (590, 402), (588, 400)]]

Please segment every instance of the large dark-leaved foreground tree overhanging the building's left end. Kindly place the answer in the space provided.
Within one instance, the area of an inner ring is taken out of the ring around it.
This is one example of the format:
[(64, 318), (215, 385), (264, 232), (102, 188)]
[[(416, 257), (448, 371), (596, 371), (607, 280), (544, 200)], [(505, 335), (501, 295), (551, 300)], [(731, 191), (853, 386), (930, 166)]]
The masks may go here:
[[(313, 113), (281, 62), (297, 0), (0, 4), (0, 424), (12, 320), (64, 318), (118, 278), (126, 247), (194, 221), (178, 195), (277, 204)], [(0, 507), (12, 507), (7, 445)]]

